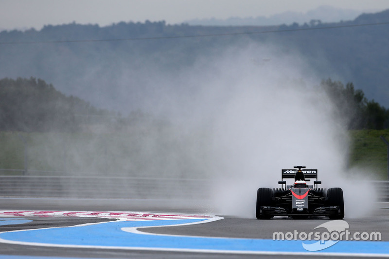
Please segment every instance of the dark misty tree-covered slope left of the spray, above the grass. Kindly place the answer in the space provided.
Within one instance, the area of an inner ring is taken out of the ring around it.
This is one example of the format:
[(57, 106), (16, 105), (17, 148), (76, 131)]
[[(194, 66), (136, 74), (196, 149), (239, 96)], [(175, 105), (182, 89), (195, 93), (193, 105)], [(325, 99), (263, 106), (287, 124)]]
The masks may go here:
[(35, 78), (0, 80), (0, 130), (78, 131), (84, 124), (107, 120), (115, 113), (97, 109)]

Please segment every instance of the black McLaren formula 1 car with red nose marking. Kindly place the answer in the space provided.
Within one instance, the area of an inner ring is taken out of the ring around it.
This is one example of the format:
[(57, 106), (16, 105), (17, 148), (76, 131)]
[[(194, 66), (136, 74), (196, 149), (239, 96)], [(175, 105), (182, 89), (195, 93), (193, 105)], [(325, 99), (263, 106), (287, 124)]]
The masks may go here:
[[(318, 188), (317, 169), (303, 169), (305, 166), (295, 166), (294, 169), (282, 169), (281, 188), (259, 188), (257, 191), (257, 219), (271, 219), (273, 216), (288, 216), (294, 219), (304, 219), (313, 216), (327, 216), (330, 219), (343, 219), (343, 190)], [(286, 185), (283, 179), (294, 179), (293, 185)], [(316, 178), (313, 185), (307, 181)]]

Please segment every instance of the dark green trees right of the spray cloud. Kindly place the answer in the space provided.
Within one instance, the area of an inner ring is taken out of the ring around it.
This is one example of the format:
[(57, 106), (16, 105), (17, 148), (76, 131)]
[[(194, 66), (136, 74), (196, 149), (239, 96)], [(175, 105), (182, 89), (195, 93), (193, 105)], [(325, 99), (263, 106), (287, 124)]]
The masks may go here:
[(389, 109), (374, 100), (368, 100), (362, 90), (339, 81), (323, 80), (321, 86), (336, 105), (336, 115), (345, 119), (349, 129), (389, 128)]

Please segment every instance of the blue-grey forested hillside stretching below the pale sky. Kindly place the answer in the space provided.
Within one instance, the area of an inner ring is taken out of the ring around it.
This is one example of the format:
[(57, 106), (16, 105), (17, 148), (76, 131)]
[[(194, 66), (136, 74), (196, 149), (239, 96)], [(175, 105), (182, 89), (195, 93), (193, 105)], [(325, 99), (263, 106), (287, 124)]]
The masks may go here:
[[(389, 10), (329, 24), (316, 21), (267, 27), (206, 27), (146, 21), (107, 27), (72, 23), (48, 25), (40, 31), (3, 31), (0, 78), (45, 78), (67, 95), (124, 113), (145, 106), (158, 109), (151, 95), (158, 99), (163, 92), (191, 94), (193, 89), (180, 88), (186, 79), (183, 71), (194, 70), (201, 62), (210, 63), (228, 50), (253, 48), (254, 44), (271, 46), (277, 54), (253, 51), (247, 63), (283, 63), (285, 56), (297, 53), (318, 77), (353, 82), (367, 98), (389, 107), (389, 25), (357, 26), (384, 22), (389, 22)], [(356, 27), (321, 29), (349, 25)], [(292, 31), (284, 32), (287, 30)], [(264, 31), (274, 33), (230, 35)], [(191, 37), (215, 34), (227, 35)], [(187, 37), (177, 38), (182, 36)], [(110, 41), (128, 38), (153, 39)], [(59, 42), (47, 43), (52, 41)]]

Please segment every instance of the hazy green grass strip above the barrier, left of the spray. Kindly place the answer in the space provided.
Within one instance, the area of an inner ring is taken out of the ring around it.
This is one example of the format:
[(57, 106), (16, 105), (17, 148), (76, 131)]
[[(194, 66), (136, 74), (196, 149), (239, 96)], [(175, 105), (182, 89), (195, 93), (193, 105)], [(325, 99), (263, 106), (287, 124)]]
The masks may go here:
[[(200, 177), (202, 167), (195, 159), (202, 154), (191, 154), (203, 152), (198, 147), (206, 141), (157, 128), (112, 134), (0, 132), (0, 169), (24, 169), (19, 136), (27, 142), (30, 175)], [(22, 173), (0, 170), (3, 175)]]

